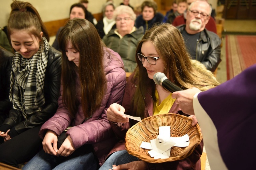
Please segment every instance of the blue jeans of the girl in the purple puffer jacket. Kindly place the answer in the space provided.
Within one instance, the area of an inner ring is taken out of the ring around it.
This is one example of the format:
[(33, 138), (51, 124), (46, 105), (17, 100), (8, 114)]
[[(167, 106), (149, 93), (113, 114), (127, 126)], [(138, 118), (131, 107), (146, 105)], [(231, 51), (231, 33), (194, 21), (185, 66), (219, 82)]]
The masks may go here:
[(23, 168), (23, 170), (97, 170), (96, 157), (92, 152), (81, 156), (67, 157), (49, 155), (41, 150)]

